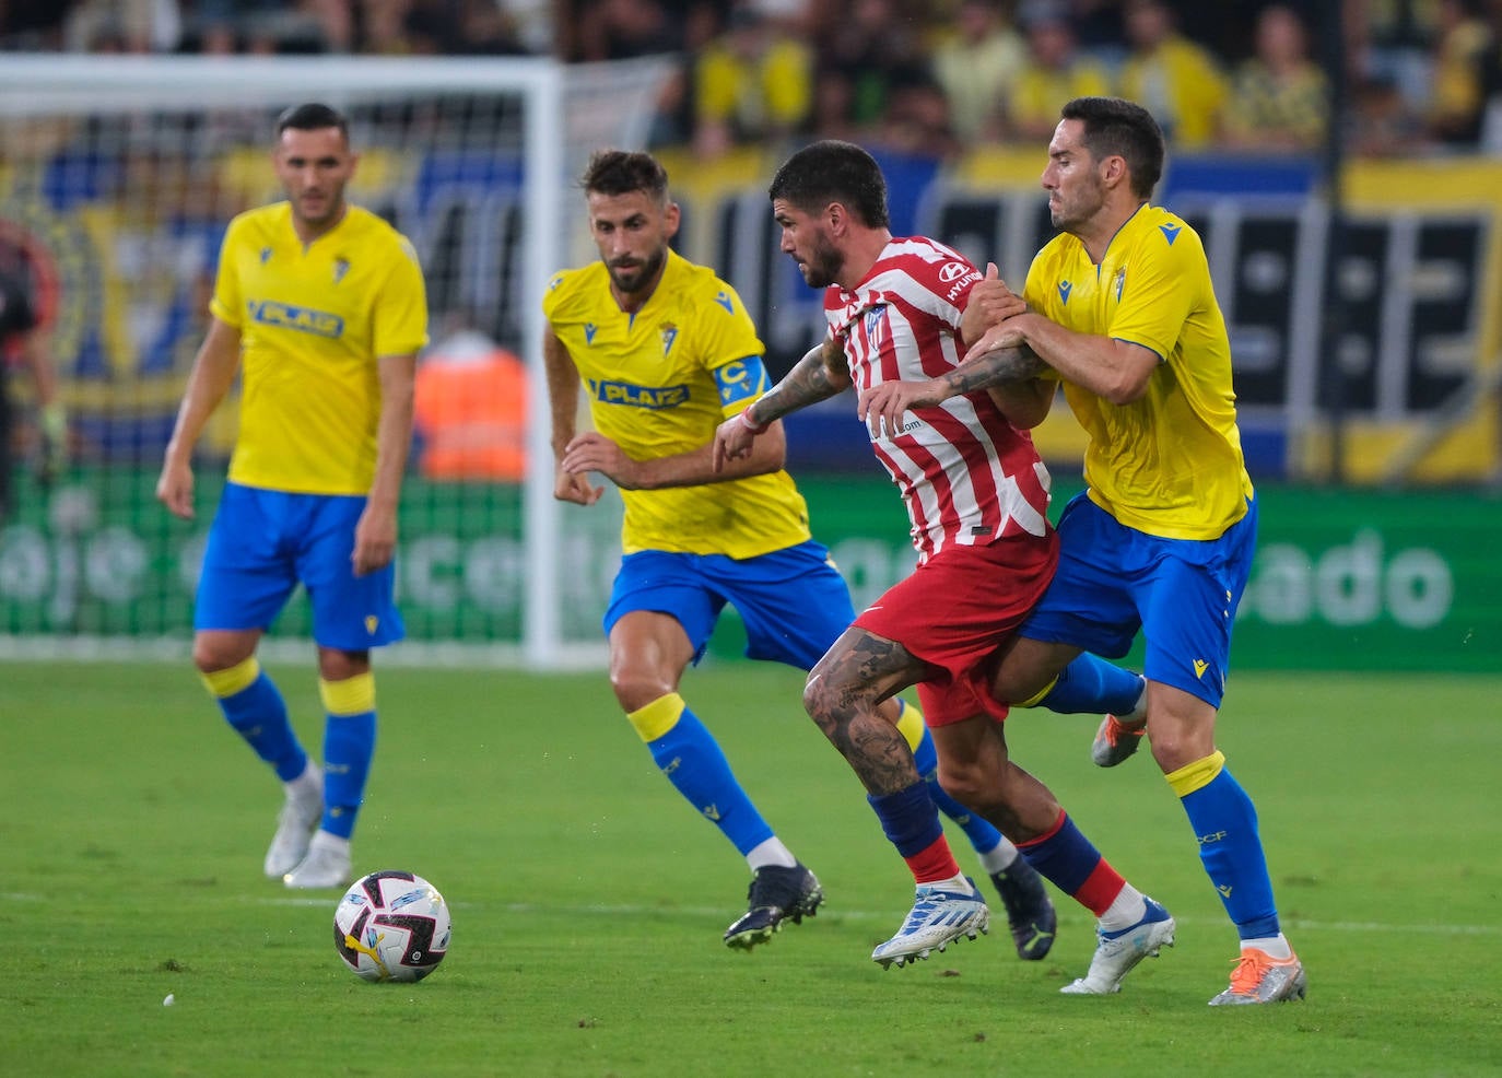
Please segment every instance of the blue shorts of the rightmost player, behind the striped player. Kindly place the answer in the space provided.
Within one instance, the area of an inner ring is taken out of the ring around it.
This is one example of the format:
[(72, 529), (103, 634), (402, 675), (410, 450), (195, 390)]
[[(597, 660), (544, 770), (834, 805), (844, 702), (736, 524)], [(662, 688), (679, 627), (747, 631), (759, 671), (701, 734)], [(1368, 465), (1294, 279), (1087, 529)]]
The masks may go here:
[(1257, 501), (1220, 539), (1160, 539), (1077, 494), (1059, 518), (1059, 569), (1020, 635), (1111, 659), (1146, 643), (1143, 674), (1220, 707), (1236, 605), (1257, 545)]

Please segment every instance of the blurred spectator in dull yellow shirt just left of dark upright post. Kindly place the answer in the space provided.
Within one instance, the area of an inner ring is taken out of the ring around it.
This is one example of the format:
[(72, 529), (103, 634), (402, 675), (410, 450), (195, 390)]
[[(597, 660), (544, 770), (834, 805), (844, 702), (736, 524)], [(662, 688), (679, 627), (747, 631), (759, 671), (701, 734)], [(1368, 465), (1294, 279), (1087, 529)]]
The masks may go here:
[(1325, 144), (1325, 72), (1310, 60), (1304, 23), (1284, 5), (1257, 17), (1256, 56), (1236, 69), (1226, 141), (1248, 150), (1313, 150)]

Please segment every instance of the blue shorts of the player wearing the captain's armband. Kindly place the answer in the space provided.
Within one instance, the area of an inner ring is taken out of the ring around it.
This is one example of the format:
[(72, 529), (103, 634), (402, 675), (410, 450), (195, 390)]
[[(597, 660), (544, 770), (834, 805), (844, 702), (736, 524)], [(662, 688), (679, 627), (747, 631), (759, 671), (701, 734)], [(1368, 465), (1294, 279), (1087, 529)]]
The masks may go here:
[(694, 662), (704, 656), (715, 620), (731, 604), (746, 628), (746, 656), (813, 670), (855, 620), (850, 589), (817, 542), (733, 559), (724, 554), (637, 551), (620, 559), (605, 608), (605, 635), (635, 610), (683, 626)]

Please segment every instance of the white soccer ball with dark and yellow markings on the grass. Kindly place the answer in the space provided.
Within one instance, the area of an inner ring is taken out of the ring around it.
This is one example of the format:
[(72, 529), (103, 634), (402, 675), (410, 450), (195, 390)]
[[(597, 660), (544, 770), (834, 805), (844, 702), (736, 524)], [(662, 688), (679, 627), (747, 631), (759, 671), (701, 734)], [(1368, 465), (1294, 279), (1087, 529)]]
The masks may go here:
[(422, 980), (449, 950), (449, 905), (412, 872), (371, 872), (333, 910), (333, 949), (365, 980)]

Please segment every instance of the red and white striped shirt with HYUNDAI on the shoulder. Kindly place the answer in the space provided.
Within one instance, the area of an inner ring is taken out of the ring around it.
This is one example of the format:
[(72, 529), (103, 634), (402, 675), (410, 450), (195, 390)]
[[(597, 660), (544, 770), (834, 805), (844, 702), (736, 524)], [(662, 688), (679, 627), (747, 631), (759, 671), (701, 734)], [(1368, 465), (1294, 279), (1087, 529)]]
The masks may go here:
[[(918, 236), (891, 240), (855, 290), (832, 285), (825, 317), (856, 392), (957, 366), (960, 314), (981, 276), (964, 255)], [(871, 449), (907, 503), (919, 562), (949, 545), (1048, 531), (1048, 470), (984, 390), (904, 413), (901, 431), (873, 435)]]

